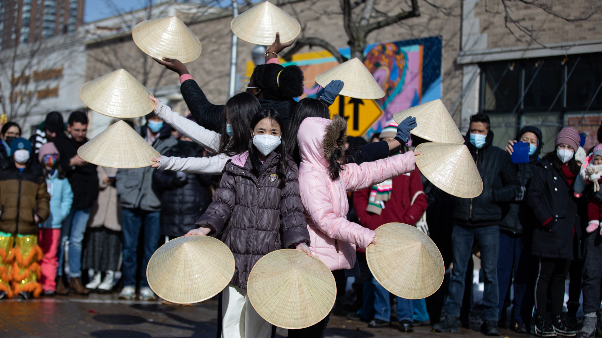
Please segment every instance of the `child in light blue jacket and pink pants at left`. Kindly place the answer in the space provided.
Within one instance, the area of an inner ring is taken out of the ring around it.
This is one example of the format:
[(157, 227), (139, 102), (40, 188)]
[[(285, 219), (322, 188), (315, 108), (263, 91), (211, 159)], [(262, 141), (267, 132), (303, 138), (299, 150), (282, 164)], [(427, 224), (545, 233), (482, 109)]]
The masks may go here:
[(46, 186), (50, 194), (50, 217), (40, 223), (40, 247), (44, 252), (42, 259), (42, 289), (45, 296), (54, 296), (57, 284), (58, 242), (61, 237), (61, 226), (67, 218), (73, 203), (73, 192), (65, 172), (58, 163), (60, 155), (54, 143), (49, 142), (40, 147), (38, 161), (44, 166)]

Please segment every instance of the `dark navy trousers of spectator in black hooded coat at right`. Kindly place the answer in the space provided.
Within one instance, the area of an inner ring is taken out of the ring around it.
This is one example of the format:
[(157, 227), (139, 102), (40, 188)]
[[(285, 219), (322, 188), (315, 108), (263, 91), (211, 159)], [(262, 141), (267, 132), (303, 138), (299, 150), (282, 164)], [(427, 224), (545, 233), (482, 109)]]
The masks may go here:
[[(500, 257), (497, 261), (497, 285), (499, 289), (500, 302), (498, 304), (498, 316), (504, 306), (504, 298), (508, 290), (508, 284), (512, 278), (512, 265), (514, 265), (514, 319), (522, 323), (521, 304), (527, 289), (529, 280), (529, 259), (531, 253), (531, 238), (524, 235), (512, 235), (500, 232)], [(529, 314), (530, 315), (530, 314)]]

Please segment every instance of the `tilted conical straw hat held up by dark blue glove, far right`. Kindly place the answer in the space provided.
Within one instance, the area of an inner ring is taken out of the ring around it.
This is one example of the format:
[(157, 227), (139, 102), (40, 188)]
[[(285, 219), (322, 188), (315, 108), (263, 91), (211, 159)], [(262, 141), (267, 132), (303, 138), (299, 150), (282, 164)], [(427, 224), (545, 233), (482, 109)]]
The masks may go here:
[(464, 144), (464, 137), (440, 99), (400, 111), (393, 118), (402, 123), (408, 116), (415, 117), (418, 123), (412, 134), (432, 142)]

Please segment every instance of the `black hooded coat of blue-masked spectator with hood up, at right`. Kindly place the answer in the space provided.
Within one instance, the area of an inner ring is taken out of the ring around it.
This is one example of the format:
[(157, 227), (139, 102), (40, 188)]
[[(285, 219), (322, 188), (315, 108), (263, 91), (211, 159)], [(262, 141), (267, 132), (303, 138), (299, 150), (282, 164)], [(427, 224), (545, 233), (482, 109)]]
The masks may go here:
[(529, 162), (514, 164), (514, 168), (518, 173), (518, 182), (521, 185), (521, 193), (501, 207), (503, 218), (500, 223), (500, 230), (513, 233), (514, 235), (521, 235), (523, 233), (530, 235), (533, 232), (533, 224), (536, 222), (533, 212), (527, 203), (526, 192), (529, 191), (531, 177), (533, 177), (533, 173), (535, 172), (535, 165), (539, 161), (539, 153), (541, 153), (541, 148), (544, 144), (541, 141), (541, 130), (533, 126), (523, 127), (518, 132), (516, 140), (520, 140), (526, 132), (532, 132), (537, 135), (539, 140), (537, 149), (533, 155), (529, 155)]

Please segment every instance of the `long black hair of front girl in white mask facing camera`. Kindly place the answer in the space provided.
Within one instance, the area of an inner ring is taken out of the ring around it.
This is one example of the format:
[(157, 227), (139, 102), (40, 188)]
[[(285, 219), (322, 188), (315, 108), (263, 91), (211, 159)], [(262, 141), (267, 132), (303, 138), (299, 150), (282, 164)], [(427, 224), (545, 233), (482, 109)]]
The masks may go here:
[[(257, 123), (259, 123), (259, 121), (263, 120), (264, 118), (270, 118), (272, 123), (278, 123), (280, 130), (281, 130), (281, 134), (280, 134), (281, 142), (280, 142), (279, 146), (276, 147), (274, 152), (280, 154), (280, 159), (278, 160), (278, 165), (276, 165), (276, 174), (278, 174), (278, 176), (280, 177), (280, 188), (283, 188), (285, 177), (286, 177), (286, 172), (287, 172), (287, 168), (288, 168), (287, 147), (285, 145), (287, 132), (286, 132), (286, 129), (284, 128), (285, 127), (284, 119), (282, 118), (282, 115), (280, 115), (280, 113), (276, 109), (272, 109), (272, 108), (261, 109), (253, 116), (253, 118), (251, 118), (250, 129), (251, 130), (255, 129), (255, 126), (257, 125)], [(250, 132), (248, 130), (247, 130), (247, 134), (250, 134)], [(253, 166), (251, 173), (253, 175), (259, 177), (259, 171), (261, 170), (261, 161), (259, 161), (259, 150), (253, 144), (253, 140), (251, 138), (249, 138), (249, 158), (251, 159), (251, 165)]]

